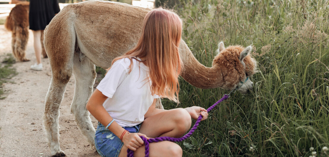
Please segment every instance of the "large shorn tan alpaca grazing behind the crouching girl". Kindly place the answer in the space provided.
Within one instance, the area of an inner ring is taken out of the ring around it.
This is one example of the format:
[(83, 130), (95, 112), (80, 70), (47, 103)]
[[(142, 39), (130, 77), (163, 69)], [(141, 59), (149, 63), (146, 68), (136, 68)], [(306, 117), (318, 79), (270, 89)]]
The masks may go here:
[[(95, 129), (86, 103), (96, 77), (95, 65), (107, 69), (111, 61), (136, 45), (143, 19), (150, 9), (110, 1), (85, 1), (67, 5), (45, 29), (44, 46), (51, 66), (52, 79), (46, 95), (43, 124), (53, 156), (65, 156), (60, 148), (58, 117), (65, 86), (72, 74), (75, 91), (71, 112), (75, 121), (94, 147)], [(248, 55), (251, 47), (219, 43), (212, 67), (199, 63), (183, 40), (179, 54), (185, 65), (182, 78), (198, 88), (223, 88), (246, 93), (252, 89), (251, 77), (256, 61)], [(241, 81), (246, 80), (241, 84)], [(160, 98), (158, 107), (162, 107)]]

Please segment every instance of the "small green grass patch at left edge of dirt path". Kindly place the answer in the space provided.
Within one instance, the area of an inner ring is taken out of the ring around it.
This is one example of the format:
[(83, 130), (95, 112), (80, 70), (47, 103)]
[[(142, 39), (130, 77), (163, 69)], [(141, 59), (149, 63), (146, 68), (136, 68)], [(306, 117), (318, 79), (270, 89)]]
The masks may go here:
[(0, 64), (0, 99), (6, 98), (2, 96), (4, 94), (3, 83), (17, 74), (16, 69), (12, 67), (13, 63), (15, 63), (13, 55), (7, 54), (6, 58)]

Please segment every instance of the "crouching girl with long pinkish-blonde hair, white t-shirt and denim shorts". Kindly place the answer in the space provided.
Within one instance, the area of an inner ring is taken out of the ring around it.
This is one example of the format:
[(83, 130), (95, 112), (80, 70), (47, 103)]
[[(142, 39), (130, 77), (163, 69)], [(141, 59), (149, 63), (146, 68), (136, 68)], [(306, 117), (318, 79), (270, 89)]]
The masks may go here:
[[(124, 157), (127, 149), (144, 156), (139, 136), (181, 137), (190, 129), (191, 117), (208, 117), (201, 107), (156, 109), (156, 99), (178, 102), (178, 76), (182, 62), (178, 46), (182, 21), (171, 11), (158, 8), (143, 21), (138, 44), (115, 58), (106, 76), (91, 95), (88, 111), (99, 121), (95, 146), (101, 156)], [(162, 141), (150, 143), (150, 156), (182, 156), (179, 145)]]

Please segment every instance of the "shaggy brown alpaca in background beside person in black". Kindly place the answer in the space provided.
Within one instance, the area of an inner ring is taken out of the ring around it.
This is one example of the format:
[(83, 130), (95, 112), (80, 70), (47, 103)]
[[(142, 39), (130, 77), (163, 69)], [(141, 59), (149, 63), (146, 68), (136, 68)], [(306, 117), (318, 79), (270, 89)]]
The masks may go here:
[[(18, 61), (30, 61), (25, 58), (26, 44), (29, 40), (29, 5), (30, 2), (20, 2), (12, 9), (6, 19), (5, 28), (12, 32), (13, 54)], [(47, 58), (41, 35), (42, 56)]]

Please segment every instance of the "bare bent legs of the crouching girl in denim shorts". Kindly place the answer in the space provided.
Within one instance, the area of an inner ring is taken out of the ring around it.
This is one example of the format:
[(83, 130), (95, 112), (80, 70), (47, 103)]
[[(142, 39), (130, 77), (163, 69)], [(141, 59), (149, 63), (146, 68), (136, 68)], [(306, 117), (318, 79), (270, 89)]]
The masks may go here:
[[(181, 137), (191, 127), (191, 116), (182, 108), (172, 109), (150, 116), (144, 120), (139, 132), (147, 137), (161, 136)], [(150, 143), (149, 156), (182, 156), (182, 148), (174, 142), (162, 141)], [(139, 147), (134, 156), (145, 156), (145, 146)], [(119, 157), (127, 156), (127, 147), (123, 146)]]

